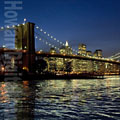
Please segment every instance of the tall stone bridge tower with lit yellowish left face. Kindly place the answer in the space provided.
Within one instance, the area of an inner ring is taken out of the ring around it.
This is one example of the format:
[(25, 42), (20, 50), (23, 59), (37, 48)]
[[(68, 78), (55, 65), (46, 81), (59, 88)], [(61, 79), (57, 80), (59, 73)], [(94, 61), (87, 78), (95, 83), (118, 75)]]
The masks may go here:
[(15, 29), (15, 48), (25, 51), (22, 56), (22, 69), (32, 72), (35, 62), (34, 23), (20, 24)]

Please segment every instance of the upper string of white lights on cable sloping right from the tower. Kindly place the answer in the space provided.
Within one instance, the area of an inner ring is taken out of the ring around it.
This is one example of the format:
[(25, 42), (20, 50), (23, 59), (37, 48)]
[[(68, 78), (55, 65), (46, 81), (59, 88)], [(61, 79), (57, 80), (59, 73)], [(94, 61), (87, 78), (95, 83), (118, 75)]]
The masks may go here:
[[(45, 32), (43, 29), (41, 29), (39, 26), (35, 26), (35, 28), (37, 30), (39, 30), (40, 32), (42, 32), (43, 34), (47, 35), (48, 37), (50, 37), (51, 39), (53, 39), (54, 41), (58, 42), (60, 45), (65, 46), (65, 44), (63, 42), (61, 42), (60, 40), (57, 40), (55, 37), (53, 37), (52, 35), (50, 35), (49, 33)], [(77, 50), (72, 49), (71, 47), (69, 47), (71, 50), (73, 50), (75, 53), (78, 53)]]

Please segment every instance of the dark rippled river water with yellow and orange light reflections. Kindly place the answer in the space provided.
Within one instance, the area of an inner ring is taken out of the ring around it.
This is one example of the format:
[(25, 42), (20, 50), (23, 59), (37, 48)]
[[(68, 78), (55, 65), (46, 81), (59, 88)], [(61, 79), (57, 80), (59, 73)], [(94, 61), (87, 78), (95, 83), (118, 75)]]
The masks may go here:
[(0, 82), (0, 120), (120, 120), (120, 77)]

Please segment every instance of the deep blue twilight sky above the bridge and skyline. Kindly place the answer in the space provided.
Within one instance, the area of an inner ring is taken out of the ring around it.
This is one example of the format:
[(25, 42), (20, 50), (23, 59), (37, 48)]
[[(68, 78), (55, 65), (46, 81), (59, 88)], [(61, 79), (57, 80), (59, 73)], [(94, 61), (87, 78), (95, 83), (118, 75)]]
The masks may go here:
[[(0, 26), (6, 19), (4, 1), (0, 0)], [(104, 56), (120, 52), (120, 0), (24, 0), (22, 7), (18, 23), (27, 18), (76, 50), (85, 43), (87, 50), (102, 49)], [(41, 46), (37, 43), (36, 48)]]

